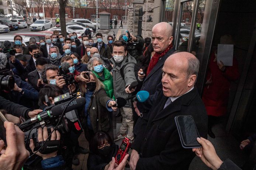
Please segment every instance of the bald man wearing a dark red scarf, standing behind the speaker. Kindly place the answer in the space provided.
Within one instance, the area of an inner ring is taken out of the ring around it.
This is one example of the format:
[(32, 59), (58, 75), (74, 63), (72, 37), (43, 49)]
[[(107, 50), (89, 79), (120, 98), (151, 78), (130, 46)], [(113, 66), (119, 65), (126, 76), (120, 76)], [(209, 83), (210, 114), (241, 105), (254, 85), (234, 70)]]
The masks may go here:
[[(139, 112), (142, 113), (142, 117), (139, 117), (138, 122), (134, 127), (134, 134), (140, 128), (140, 124), (145, 117), (148, 117), (147, 114), (151, 109), (151, 106), (156, 101), (156, 98), (159, 92), (162, 90), (162, 68), (165, 60), (173, 54), (175, 51), (174, 46), (172, 45), (173, 36), (172, 36), (172, 26), (167, 22), (160, 22), (153, 26), (152, 28), (152, 44), (155, 51), (155, 54), (151, 58), (147, 70), (140, 69), (138, 72), (138, 77), (143, 80), (143, 77), (146, 76), (146, 79), (143, 82), (141, 90), (149, 92), (149, 98), (143, 103), (137, 104)], [(146, 75), (141, 75), (140, 72), (146, 72)], [(135, 106), (136, 107), (136, 106)]]

